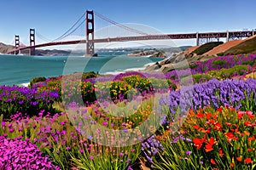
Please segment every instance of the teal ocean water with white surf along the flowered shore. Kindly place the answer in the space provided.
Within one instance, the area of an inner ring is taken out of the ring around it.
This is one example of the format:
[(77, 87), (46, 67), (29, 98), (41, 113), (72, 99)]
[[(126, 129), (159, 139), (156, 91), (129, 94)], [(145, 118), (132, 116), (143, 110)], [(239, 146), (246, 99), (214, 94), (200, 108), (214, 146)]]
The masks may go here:
[(34, 77), (57, 77), (73, 72), (95, 71), (118, 74), (142, 70), (158, 58), (130, 57), (126, 52), (99, 53), (98, 57), (84, 56), (26, 56), (0, 55), (0, 85), (26, 84)]

